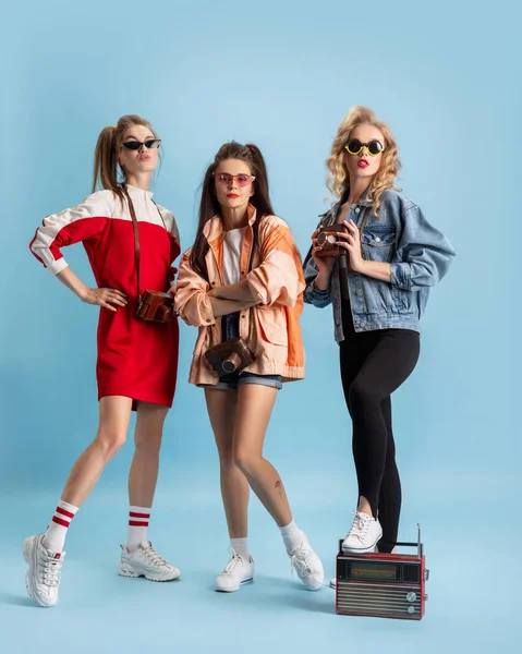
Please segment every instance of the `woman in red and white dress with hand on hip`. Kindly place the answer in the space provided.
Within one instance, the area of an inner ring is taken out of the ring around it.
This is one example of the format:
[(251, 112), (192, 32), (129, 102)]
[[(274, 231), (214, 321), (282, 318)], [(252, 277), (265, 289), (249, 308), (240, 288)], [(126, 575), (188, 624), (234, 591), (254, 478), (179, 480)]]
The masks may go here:
[[(149, 191), (160, 140), (150, 123), (124, 116), (99, 135), (93, 194), (80, 205), (48, 216), (31, 251), (83, 302), (100, 306), (98, 324), (99, 424), (93, 443), (75, 462), (45, 533), (24, 542), (26, 588), (39, 606), (58, 602), (68, 528), (106, 463), (125, 443), (131, 412), (136, 415), (135, 452), (129, 477), (129, 535), (119, 574), (168, 581), (180, 577), (147, 538), (158, 476), (163, 421), (175, 389), (179, 330), (168, 323), (136, 317), (137, 277), (132, 210), (139, 241), (139, 291), (166, 291), (180, 254), (174, 216)], [(102, 191), (96, 192), (100, 182)], [(82, 242), (96, 288), (87, 288), (62, 255)]]

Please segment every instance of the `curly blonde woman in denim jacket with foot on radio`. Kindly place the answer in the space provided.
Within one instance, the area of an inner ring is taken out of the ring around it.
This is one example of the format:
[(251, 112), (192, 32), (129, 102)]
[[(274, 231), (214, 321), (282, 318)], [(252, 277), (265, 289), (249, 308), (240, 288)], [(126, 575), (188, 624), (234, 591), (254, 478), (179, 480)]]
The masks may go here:
[[(342, 547), (389, 553), (401, 509), (390, 396), (415, 367), (429, 288), (446, 275), (454, 252), (418, 206), (394, 190), (397, 145), (373, 111), (352, 108), (339, 125), (327, 166), (338, 202), (312, 234), (304, 301), (333, 306), (353, 425), (359, 494)], [(332, 223), (347, 227), (337, 238), (347, 256), (320, 256), (319, 228)]]

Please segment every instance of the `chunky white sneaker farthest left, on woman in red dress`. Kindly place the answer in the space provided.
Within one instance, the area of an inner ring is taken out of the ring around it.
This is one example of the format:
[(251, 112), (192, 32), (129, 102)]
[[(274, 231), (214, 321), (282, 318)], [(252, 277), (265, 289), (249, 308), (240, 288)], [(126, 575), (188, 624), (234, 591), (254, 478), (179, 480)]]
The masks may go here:
[(43, 545), (46, 534), (31, 536), (24, 541), (24, 559), (29, 569), (25, 573), (25, 588), (29, 597), (46, 608), (58, 602), (58, 588), (64, 552), (52, 552)]

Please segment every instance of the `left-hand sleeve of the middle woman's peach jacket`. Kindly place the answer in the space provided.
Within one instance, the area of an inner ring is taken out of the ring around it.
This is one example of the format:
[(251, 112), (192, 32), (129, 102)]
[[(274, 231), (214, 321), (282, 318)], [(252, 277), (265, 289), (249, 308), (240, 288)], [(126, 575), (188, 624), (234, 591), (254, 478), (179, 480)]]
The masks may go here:
[(208, 327), (216, 323), (213, 305), (207, 294), (210, 286), (193, 270), (190, 256), (191, 251), (187, 250), (180, 263), (174, 308), (187, 325)]

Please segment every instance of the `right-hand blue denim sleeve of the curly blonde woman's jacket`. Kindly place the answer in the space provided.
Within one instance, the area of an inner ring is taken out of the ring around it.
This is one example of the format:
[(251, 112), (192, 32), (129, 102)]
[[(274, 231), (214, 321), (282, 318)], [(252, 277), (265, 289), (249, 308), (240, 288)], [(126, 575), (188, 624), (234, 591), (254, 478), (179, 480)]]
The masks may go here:
[(404, 210), (402, 232), (391, 262), (391, 283), (418, 291), (442, 279), (454, 257), (448, 239), (435, 229), (416, 205)]

